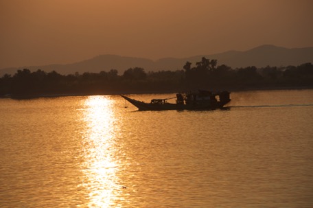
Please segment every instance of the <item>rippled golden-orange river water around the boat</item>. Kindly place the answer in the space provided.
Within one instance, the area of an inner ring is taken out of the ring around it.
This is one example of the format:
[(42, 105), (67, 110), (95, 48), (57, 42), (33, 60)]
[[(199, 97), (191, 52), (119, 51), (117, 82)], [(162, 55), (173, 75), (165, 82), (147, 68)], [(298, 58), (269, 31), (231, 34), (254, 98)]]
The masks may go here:
[(231, 98), (161, 112), (117, 95), (2, 99), (0, 207), (313, 207), (313, 90)]

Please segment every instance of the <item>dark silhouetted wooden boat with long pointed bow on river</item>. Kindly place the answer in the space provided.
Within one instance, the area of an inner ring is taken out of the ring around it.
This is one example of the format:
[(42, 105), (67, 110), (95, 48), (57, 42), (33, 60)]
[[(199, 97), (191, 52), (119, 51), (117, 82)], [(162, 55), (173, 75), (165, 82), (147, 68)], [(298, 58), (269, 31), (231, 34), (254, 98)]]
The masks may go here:
[[(213, 110), (222, 108), (231, 101), (230, 93), (222, 91), (212, 93), (211, 91), (198, 91), (196, 93), (178, 93), (176, 97), (166, 99), (152, 99), (150, 103), (141, 102), (121, 95), (125, 100), (136, 106), (139, 111), (165, 111), (165, 110)], [(176, 103), (167, 100), (176, 98)]]

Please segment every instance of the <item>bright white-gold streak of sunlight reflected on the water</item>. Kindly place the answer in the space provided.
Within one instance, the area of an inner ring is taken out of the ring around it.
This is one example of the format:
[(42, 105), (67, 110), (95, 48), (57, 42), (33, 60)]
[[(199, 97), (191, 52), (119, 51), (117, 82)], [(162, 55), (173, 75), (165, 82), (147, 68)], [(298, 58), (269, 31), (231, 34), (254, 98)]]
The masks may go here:
[(84, 106), (83, 186), (89, 192), (89, 207), (119, 207), (113, 100), (90, 96)]

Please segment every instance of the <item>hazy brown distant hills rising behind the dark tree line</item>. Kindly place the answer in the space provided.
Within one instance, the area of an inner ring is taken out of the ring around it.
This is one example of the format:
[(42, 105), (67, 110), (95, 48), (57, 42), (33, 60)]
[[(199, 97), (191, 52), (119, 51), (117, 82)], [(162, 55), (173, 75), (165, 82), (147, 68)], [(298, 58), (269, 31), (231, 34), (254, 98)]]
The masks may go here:
[(189, 58), (161, 58), (153, 61), (147, 58), (132, 58), (117, 55), (100, 55), (89, 60), (67, 64), (67, 65), (45, 65), (45, 66), (28, 66), (19, 68), (0, 69), (0, 77), (5, 73), (14, 74), (18, 69), (30, 69), (36, 71), (57, 71), (60, 74), (73, 74), (84, 72), (110, 71), (117, 69), (119, 74), (123, 74), (130, 67), (141, 67), (145, 71), (161, 71), (161, 70), (178, 70), (183, 69), (183, 65), (187, 61), (194, 65), (205, 56), (209, 59), (217, 59), (218, 65), (228, 65), (233, 69), (238, 67), (266, 67), (277, 66), (284, 67), (288, 65), (301, 65), (305, 62), (313, 62), (313, 47), (292, 48), (277, 47), (275, 45), (261, 45), (248, 51), (226, 51), (221, 54), (199, 55)]

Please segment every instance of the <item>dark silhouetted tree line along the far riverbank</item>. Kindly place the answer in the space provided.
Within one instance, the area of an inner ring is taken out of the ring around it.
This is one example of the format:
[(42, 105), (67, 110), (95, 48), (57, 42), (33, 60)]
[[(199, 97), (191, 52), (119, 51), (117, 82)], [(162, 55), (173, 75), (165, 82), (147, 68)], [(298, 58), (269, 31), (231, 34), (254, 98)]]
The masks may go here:
[(41, 69), (18, 70), (0, 78), (0, 96), (99, 95), (117, 93), (167, 93), (193, 89), (249, 90), (312, 88), (313, 65), (288, 67), (242, 67), (217, 65), (205, 57), (196, 65), (186, 62), (181, 70), (148, 71), (129, 68), (122, 75), (116, 69), (100, 73), (61, 75)]

